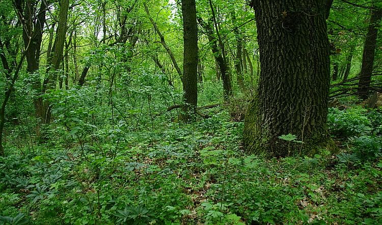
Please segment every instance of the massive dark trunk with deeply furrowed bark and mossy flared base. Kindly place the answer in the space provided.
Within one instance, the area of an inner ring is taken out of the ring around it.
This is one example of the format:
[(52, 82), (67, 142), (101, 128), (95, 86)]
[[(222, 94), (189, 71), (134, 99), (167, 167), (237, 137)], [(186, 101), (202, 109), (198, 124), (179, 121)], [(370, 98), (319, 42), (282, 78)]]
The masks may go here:
[[(326, 130), (330, 61), (325, 1), (258, 0), (252, 6), (261, 73), (245, 116), (245, 149), (268, 157), (335, 149)], [(304, 144), (279, 138), (289, 133)]]

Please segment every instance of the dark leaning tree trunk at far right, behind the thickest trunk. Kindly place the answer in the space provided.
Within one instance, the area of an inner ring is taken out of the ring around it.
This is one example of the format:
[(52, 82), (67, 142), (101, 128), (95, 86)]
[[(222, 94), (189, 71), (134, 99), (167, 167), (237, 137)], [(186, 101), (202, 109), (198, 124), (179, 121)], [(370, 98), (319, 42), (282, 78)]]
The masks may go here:
[(373, 73), (375, 46), (378, 33), (377, 25), (381, 17), (382, 10), (371, 10), (371, 17), (365, 38), (364, 52), (362, 55), (362, 66), (360, 72), (361, 77), (358, 83), (358, 95), (362, 99), (367, 99), (369, 96), (369, 87), (371, 82), (371, 74)]

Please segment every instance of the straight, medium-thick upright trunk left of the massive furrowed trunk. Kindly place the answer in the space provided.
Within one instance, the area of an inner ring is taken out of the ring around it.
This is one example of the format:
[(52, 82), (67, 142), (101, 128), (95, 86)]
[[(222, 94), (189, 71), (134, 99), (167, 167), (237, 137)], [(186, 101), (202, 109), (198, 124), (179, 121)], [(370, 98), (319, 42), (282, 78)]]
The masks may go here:
[(181, 119), (188, 121), (198, 103), (198, 24), (195, 0), (182, 0), (183, 16), (183, 98)]

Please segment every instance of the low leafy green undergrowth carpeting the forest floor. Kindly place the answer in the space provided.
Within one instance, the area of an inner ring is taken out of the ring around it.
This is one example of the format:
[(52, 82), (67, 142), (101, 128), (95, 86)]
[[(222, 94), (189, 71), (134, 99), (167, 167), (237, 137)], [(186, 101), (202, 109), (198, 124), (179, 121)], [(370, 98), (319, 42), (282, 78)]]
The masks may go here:
[(330, 110), (338, 155), (272, 160), (244, 154), (243, 123), (210, 110), (189, 125), (73, 126), (8, 146), (0, 224), (382, 223), (377, 110)]

